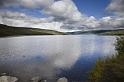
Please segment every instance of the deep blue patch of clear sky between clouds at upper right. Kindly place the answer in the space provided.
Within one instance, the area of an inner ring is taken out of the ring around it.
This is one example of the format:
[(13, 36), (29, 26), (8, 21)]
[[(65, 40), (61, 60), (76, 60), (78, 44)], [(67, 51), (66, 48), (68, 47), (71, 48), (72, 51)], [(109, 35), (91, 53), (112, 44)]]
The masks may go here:
[(110, 0), (73, 0), (81, 13), (88, 16), (100, 18), (107, 16), (105, 8), (110, 4)]

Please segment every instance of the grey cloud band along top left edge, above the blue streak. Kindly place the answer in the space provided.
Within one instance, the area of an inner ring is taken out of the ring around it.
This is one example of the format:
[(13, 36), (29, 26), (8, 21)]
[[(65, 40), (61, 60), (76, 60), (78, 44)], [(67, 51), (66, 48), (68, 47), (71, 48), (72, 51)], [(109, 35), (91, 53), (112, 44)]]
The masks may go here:
[(54, 0), (1, 0), (1, 7), (22, 6), (26, 8), (48, 7)]

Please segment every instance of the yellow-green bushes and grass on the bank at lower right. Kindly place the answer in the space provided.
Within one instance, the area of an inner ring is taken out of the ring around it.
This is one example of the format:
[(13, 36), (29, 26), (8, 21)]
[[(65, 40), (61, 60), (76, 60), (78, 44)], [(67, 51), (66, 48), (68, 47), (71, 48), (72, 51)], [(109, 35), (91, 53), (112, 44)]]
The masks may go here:
[(124, 37), (117, 38), (115, 46), (117, 53), (111, 58), (96, 61), (90, 82), (124, 82)]

